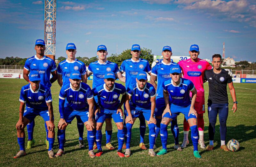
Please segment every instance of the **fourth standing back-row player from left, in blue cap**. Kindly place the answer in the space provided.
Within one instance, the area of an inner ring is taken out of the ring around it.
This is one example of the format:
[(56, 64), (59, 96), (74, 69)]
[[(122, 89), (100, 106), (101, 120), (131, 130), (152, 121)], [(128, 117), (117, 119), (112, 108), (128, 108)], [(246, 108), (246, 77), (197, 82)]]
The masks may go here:
[[(140, 45), (134, 44), (131, 49), (132, 58), (123, 61), (120, 66), (120, 71), (123, 74), (125, 72), (125, 88), (127, 90), (128, 86), (135, 82), (136, 76), (138, 72), (145, 71), (149, 75), (151, 74), (151, 68), (147, 60), (140, 58)], [(124, 106), (125, 107), (125, 106)], [(124, 112), (126, 109), (124, 108)], [(124, 118), (126, 114), (124, 115)], [(143, 115), (139, 117), (140, 119), (140, 148), (147, 149), (144, 144), (144, 136), (146, 132), (146, 122)], [(127, 132), (127, 128), (125, 127), (125, 135)]]

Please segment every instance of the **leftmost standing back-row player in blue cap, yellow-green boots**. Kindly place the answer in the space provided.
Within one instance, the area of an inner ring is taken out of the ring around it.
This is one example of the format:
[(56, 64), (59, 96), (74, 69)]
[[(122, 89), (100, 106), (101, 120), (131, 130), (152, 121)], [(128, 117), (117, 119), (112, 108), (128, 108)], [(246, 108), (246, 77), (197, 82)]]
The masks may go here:
[[(42, 39), (36, 40), (35, 50), (36, 50), (36, 55), (28, 58), (25, 62), (25, 66), (23, 69), (23, 78), (26, 81), (28, 81), (29, 72), (37, 71), (39, 72), (41, 77), (40, 84), (44, 85), (46, 88), (50, 90), (52, 83), (58, 78), (55, 62), (51, 58), (44, 56), (44, 50), (45, 50), (44, 40)], [(50, 79), (51, 74), (52, 74), (52, 78)], [(35, 140), (33, 138), (34, 126), (35, 126), (34, 120), (28, 123), (27, 125), (27, 129), (28, 129), (27, 149), (30, 149), (35, 144)], [(45, 140), (46, 149), (49, 149), (48, 129), (46, 124), (44, 124), (44, 126), (46, 130), (46, 140)]]

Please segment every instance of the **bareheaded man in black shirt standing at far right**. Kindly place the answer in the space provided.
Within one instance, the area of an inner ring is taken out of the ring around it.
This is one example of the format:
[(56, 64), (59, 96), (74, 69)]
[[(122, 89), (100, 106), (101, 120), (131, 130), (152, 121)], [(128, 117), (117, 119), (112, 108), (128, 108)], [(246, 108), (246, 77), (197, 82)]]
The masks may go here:
[(221, 56), (215, 54), (212, 56), (213, 69), (207, 70), (204, 73), (204, 80), (209, 82), (209, 97), (208, 97), (208, 118), (209, 118), (209, 140), (210, 145), (206, 147), (207, 150), (213, 149), (213, 139), (215, 134), (215, 124), (217, 115), (220, 120), (220, 148), (228, 151), (225, 144), (227, 134), (227, 118), (228, 118), (228, 94), (227, 84), (233, 99), (233, 112), (237, 110), (236, 92), (232, 82), (232, 77), (228, 72), (221, 69)]

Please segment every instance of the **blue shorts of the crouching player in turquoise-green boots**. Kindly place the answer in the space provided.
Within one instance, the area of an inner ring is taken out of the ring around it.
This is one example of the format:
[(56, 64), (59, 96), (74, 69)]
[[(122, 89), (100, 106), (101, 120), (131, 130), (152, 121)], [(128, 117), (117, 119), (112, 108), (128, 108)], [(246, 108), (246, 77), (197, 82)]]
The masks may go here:
[(188, 120), (190, 118), (196, 118), (195, 114), (190, 114), (188, 117), (190, 105), (188, 107), (180, 107), (180, 106), (171, 104), (170, 110), (171, 110), (172, 115), (170, 115), (170, 113), (167, 112), (166, 114), (164, 114), (164, 117), (175, 119), (175, 117), (177, 117), (180, 113), (182, 113), (182, 114), (184, 114), (186, 120)]

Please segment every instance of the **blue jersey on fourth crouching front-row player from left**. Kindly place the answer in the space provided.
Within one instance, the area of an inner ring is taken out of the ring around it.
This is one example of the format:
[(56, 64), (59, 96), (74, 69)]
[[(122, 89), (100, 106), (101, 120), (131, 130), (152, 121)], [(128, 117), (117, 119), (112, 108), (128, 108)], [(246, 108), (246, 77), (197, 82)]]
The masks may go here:
[[(138, 83), (132, 83), (128, 86), (126, 94), (132, 96), (131, 105), (136, 108), (136, 110), (151, 109), (150, 98), (156, 96), (156, 90), (153, 85), (146, 83), (143, 90), (140, 90)], [(151, 110), (145, 110), (149, 113)]]

